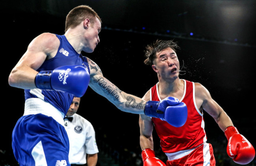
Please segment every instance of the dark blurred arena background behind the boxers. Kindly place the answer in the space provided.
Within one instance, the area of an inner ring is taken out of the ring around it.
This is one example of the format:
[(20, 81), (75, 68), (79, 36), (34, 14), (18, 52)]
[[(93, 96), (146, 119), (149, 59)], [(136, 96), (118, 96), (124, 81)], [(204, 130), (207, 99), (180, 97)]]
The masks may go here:
[[(144, 65), (143, 51), (156, 39), (174, 40), (182, 75), (199, 82), (254, 147), (255, 0), (1, 0), (1, 69), (4, 73), (0, 166), (16, 166), (11, 133), (24, 112), (24, 92), (8, 85), (11, 69), (43, 32), (64, 34), (65, 16), (91, 6), (102, 19), (100, 43), (91, 58), (121, 90), (143, 97), (158, 79)], [(88, 88), (78, 114), (89, 120), (100, 150), (98, 166), (141, 166), (138, 115), (121, 112)], [(208, 143), (218, 166), (238, 165), (226, 154), (226, 138), (204, 112)], [(154, 131), (156, 156), (166, 161)], [(255, 160), (248, 165), (256, 165)]]

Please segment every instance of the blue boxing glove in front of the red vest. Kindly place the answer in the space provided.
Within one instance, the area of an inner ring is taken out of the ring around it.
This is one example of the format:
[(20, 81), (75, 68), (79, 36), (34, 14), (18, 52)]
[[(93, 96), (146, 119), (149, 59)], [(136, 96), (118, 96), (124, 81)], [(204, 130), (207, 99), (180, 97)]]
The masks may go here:
[(167, 121), (174, 127), (181, 127), (187, 121), (187, 106), (175, 97), (167, 97), (161, 101), (147, 101), (144, 113)]

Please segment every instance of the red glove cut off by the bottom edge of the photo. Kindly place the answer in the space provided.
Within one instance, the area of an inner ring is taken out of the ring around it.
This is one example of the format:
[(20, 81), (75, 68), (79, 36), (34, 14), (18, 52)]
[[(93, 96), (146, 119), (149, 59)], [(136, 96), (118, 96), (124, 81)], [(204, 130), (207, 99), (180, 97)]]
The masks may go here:
[(154, 150), (146, 148), (141, 153), (143, 166), (166, 166), (164, 162), (156, 158)]

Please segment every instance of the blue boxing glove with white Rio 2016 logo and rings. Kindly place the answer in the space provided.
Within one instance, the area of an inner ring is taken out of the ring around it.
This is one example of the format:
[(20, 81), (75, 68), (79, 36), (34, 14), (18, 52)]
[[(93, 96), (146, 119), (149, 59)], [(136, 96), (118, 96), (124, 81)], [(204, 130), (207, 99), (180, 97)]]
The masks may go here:
[(67, 65), (52, 71), (40, 71), (35, 86), (42, 90), (57, 90), (82, 97), (89, 85), (90, 74), (83, 66)]

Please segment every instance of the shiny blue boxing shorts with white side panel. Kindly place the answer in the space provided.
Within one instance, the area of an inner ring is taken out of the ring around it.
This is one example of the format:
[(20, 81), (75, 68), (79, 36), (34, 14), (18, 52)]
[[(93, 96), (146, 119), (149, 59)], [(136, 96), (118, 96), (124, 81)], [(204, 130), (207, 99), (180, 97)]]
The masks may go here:
[(12, 147), (20, 166), (70, 166), (65, 128), (43, 114), (20, 117), (13, 129)]

